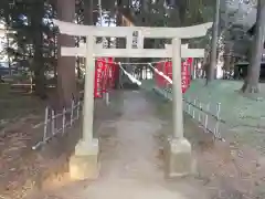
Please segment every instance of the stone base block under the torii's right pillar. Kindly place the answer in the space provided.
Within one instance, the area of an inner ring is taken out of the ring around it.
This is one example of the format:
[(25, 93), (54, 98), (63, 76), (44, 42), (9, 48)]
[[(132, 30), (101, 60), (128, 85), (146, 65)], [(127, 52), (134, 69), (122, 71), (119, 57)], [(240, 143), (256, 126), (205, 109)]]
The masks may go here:
[(191, 145), (186, 138), (170, 138), (166, 145), (166, 178), (188, 176), (195, 170)]

